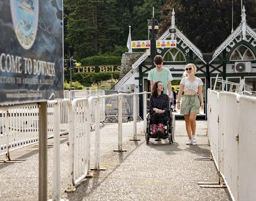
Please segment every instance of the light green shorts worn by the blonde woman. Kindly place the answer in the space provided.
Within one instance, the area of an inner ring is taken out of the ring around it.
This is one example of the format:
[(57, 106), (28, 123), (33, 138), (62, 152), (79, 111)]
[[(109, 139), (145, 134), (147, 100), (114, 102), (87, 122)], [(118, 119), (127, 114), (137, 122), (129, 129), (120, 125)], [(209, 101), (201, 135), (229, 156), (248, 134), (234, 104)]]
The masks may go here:
[(180, 113), (189, 115), (191, 112), (200, 112), (200, 100), (198, 95), (184, 95)]

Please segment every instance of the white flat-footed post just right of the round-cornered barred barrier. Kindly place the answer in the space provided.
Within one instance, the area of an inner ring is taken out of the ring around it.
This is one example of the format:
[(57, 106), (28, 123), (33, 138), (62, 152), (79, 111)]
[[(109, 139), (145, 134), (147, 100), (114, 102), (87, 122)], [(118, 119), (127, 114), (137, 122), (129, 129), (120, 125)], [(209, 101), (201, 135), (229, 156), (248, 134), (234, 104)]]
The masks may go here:
[[(94, 96), (95, 97), (95, 96)], [(100, 104), (99, 96), (95, 97), (95, 167), (90, 170), (106, 170), (104, 167), (100, 167)]]

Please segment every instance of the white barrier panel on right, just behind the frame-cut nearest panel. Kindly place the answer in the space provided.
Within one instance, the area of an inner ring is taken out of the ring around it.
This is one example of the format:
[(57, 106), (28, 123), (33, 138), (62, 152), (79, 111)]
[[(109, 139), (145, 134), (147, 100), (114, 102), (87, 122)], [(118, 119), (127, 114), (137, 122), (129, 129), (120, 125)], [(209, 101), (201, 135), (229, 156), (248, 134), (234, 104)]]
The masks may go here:
[[(238, 200), (239, 104), (235, 93), (220, 93), (220, 172), (231, 197)], [(239, 96), (239, 95), (238, 95)]]

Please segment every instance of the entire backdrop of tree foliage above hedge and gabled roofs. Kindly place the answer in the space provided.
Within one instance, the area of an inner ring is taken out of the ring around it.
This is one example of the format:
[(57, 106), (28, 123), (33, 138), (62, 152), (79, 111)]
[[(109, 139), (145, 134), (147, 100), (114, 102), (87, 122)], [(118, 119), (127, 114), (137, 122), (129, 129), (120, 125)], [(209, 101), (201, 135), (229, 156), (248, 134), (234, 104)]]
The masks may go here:
[[(234, 2), (234, 28), (241, 22), (241, 0)], [(147, 39), (147, 19), (160, 23), (158, 36), (171, 22), (202, 50), (212, 52), (231, 33), (232, 0), (63, 0), (65, 53), (82, 58), (121, 56), (126, 49), (129, 25), (132, 40)], [(243, 0), (247, 23), (256, 28), (256, 2)], [(119, 54), (119, 55), (117, 55)]]

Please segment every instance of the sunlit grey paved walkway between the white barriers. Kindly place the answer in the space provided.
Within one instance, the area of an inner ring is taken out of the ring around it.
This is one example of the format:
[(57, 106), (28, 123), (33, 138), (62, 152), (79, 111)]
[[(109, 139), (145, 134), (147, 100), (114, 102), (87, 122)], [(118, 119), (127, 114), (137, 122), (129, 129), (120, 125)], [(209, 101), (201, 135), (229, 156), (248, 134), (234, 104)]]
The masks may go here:
[[(138, 123), (138, 132), (142, 131)], [(198, 121), (198, 134), (206, 134), (206, 121)], [(118, 147), (118, 125), (105, 125), (100, 131), (102, 166), (106, 171), (93, 171), (93, 178), (81, 182), (74, 193), (64, 193), (67, 187), (68, 146), (62, 138), (61, 170), (62, 198), (69, 200), (231, 200), (225, 188), (200, 188), (199, 181), (217, 182), (214, 161), (195, 161), (194, 157), (210, 155), (209, 146), (185, 145), (184, 121), (176, 121), (175, 143), (167, 140), (146, 144), (132, 138), (132, 122), (123, 124), (124, 149)], [(207, 136), (199, 136), (207, 143)], [(94, 165), (94, 132), (92, 132), (91, 165)], [(49, 144), (52, 139), (49, 140)], [(49, 148), (48, 197), (52, 194), (52, 153)], [(13, 151), (12, 158), (26, 158), (20, 163), (0, 164), (0, 200), (38, 200), (38, 148)]]

